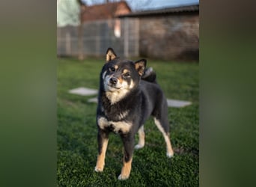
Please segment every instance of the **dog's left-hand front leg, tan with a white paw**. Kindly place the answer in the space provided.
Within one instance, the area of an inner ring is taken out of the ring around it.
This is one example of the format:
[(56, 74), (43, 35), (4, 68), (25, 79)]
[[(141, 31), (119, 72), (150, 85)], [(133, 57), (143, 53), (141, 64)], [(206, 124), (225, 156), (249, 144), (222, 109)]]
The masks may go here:
[(106, 149), (108, 147), (109, 132), (106, 132), (99, 128), (98, 130), (98, 156), (95, 171), (103, 171), (105, 165)]

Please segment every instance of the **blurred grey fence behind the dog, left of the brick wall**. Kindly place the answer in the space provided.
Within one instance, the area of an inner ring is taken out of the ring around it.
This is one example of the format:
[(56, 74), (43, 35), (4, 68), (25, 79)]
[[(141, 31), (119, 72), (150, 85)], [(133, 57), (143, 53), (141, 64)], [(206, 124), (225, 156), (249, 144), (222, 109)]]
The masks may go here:
[[(82, 40), (80, 47), (79, 40), (80, 42)], [(109, 46), (120, 56), (138, 56), (138, 19), (85, 22), (82, 24), (82, 37), (79, 36), (79, 27), (57, 28), (57, 55), (59, 56), (76, 56), (79, 55), (80, 50), (85, 56), (101, 56), (106, 54)]]

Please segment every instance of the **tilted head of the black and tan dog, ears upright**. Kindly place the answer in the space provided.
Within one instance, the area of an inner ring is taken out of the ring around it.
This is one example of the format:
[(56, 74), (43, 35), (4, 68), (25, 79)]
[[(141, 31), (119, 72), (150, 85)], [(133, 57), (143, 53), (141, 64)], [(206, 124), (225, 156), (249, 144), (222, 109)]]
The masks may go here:
[(129, 61), (118, 58), (112, 48), (107, 49), (106, 64), (101, 79), (106, 92), (118, 92), (121, 95), (138, 86), (147, 61)]

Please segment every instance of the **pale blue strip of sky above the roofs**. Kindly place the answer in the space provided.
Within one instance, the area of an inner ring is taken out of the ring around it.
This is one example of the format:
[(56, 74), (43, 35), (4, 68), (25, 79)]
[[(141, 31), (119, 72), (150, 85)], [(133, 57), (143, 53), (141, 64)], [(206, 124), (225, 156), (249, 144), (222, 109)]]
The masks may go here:
[[(102, 4), (106, 0), (82, 0), (85, 1), (86, 4)], [(117, 0), (110, 0), (117, 1)], [(199, 0), (127, 0), (127, 4), (135, 10), (153, 10), (153, 9), (161, 9), (165, 7), (177, 7), (186, 4), (198, 4)]]

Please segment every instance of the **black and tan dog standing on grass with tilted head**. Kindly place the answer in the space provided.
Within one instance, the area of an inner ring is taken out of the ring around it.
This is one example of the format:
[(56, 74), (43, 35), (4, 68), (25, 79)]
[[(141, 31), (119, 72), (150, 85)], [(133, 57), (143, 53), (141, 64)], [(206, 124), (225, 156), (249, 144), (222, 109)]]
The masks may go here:
[(118, 58), (112, 48), (106, 52), (106, 64), (100, 73), (97, 107), (98, 156), (95, 171), (103, 171), (109, 132), (121, 136), (124, 143), (124, 165), (119, 180), (129, 177), (132, 167), (135, 133), (144, 147), (143, 124), (150, 115), (165, 138), (167, 156), (174, 152), (169, 139), (168, 109), (164, 94), (156, 84), (153, 70), (144, 69), (146, 60), (132, 62)]

